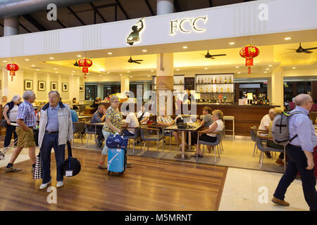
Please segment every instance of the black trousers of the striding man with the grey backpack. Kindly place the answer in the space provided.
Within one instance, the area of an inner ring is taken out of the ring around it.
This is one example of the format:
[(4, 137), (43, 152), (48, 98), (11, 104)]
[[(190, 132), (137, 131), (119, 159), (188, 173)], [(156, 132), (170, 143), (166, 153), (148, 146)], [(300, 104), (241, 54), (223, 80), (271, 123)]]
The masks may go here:
[(297, 172), (299, 172), (306, 203), (309, 205), (311, 211), (317, 211), (316, 177), (313, 174), (315, 168), (310, 170), (306, 169), (307, 158), (301, 147), (288, 144), (286, 146), (286, 154), (288, 157), (287, 169), (280, 179), (273, 196), (284, 200), (287, 188), (292, 184)]

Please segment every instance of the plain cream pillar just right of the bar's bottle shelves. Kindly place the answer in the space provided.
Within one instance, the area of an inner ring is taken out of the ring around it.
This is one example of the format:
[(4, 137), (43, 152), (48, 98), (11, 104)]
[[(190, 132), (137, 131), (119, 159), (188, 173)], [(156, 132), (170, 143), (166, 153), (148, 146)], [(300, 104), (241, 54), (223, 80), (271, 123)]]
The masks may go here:
[(284, 110), (284, 86), (282, 68), (276, 68), (272, 73), (272, 99), (273, 105), (280, 105), (278, 109)]

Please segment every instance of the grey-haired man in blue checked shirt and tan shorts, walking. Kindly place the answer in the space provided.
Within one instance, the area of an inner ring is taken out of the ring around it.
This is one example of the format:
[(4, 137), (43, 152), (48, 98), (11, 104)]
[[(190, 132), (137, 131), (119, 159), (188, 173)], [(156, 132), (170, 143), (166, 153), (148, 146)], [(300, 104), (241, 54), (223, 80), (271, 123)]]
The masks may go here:
[(23, 103), (18, 108), (18, 115), (16, 117), (16, 134), (18, 134), (18, 148), (13, 151), (12, 157), (6, 166), (6, 172), (18, 172), (21, 169), (14, 168), (13, 163), (18, 158), (23, 148), (29, 148), (29, 156), (32, 163), (32, 172), (35, 167), (35, 140), (33, 128), (37, 124), (37, 117), (32, 103), (35, 101), (35, 93), (33, 91), (25, 91), (23, 94)]

